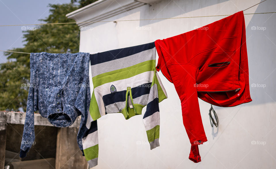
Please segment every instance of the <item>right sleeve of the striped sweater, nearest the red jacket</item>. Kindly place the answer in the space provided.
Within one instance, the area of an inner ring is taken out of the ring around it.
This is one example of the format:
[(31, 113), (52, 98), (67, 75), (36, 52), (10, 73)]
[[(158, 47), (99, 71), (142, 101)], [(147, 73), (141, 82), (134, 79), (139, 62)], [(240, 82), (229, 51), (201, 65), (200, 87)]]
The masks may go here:
[(147, 102), (147, 109), (143, 117), (143, 122), (147, 132), (148, 141), (150, 142), (151, 150), (159, 146), (159, 102), (166, 98), (166, 91), (160, 81), (157, 72), (155, 71)]

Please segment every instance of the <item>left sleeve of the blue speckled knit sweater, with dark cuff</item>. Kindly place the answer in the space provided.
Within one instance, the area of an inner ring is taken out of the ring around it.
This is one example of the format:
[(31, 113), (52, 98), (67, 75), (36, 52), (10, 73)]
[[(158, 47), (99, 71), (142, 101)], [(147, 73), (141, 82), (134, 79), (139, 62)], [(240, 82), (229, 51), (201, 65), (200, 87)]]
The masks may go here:
[(34, 144), (34, 111), (37, 110), (37, 97), (35, 96), (34, 87), (30, 84), (25, 124), (20, 147), (20, 158), (26, 157), (27, 152), (29, 152), (32, 144)]

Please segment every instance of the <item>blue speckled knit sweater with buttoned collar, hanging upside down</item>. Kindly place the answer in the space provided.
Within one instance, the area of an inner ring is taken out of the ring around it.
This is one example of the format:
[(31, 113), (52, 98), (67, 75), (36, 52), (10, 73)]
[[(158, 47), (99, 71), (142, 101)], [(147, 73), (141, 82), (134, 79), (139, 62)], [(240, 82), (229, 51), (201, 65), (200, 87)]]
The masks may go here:
[(34, 142), (34, 111), (56, 127), (68, 127), (81, 115), (77, 135), (82, 135), (90, 103), (89, 53), (30, 54), (30, 89), (20, 157), (26, 157)]

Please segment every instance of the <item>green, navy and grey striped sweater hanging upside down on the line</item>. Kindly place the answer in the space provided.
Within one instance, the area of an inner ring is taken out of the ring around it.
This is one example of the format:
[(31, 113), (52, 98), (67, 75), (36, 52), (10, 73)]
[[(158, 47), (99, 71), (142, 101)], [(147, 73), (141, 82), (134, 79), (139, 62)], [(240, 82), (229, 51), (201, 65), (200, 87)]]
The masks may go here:
[(82, 144), (90, 168), (97, 165), (97, 119), (122, 113), (143, 116), (150, 149), (159, 146), (159, 102), (167, 98), (155, 68), (154, 42), (90, 55), (93, 93)]

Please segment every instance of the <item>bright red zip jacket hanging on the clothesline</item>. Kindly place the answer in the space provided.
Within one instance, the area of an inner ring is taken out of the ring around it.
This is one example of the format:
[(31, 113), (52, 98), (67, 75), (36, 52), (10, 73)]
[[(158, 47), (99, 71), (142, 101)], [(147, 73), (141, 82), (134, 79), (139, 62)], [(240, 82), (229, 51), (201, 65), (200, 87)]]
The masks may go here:
[(189, 159), (200, 162), (198, 144), (207, 141), (198, 97), (221, 107), (252, 101), (243, 11), (196, 30), (155, 41), (157, 70), (173, 82), (191, 143)]

